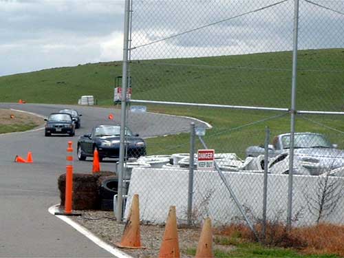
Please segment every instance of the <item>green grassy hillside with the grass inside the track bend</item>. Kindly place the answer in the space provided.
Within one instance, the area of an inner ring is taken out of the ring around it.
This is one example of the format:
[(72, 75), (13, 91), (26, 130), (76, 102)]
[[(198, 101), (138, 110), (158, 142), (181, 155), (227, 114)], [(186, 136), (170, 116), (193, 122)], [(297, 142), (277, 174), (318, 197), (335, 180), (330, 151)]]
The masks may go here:
[[(206, 58), (133, 61), (130, 65), (133, 99), (166, 100), (222, 105), (290, 107), (292, 53), (274, 52)], [(94, 95), (99, 105), (112, 105), (114, 79), (122, 74), (121, 62), (0, 77), (0, 101), (76, 104), (82, 95)], [(344, 49), (304, 50), (298, 55), (297, 108), (344, 110)], [(268, 125), (272, 134), (290, 129), (290, 118), (276, 118), (250, 127), (243, 125), (274, 116), (270, 112), (233, 111), (149, 105), (149, 111), (195, 116), (210, 122), (209, 147), (244, 154), (250, 144), (264, 141)], [(297, 131), (317, 131), (344, 147), (341, 116), (298, 118)], [(320, 123), (321, 125), (317, 125)], [(236, 129), (239, 127), (239, 129)], [(150, 153), (188, 151), (187, 135), (149, 140)], [(224, 144), (226, 142), (226, 144)]]

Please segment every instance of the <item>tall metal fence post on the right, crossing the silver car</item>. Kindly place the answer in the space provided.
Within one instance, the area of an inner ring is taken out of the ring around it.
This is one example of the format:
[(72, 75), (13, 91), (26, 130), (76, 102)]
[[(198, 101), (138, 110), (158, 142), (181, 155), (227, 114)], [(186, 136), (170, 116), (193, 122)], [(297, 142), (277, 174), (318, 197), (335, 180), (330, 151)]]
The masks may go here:
[(294, 167), (294, 132), (295, 132), (295, 116), (296, 96), (297, 96), (297, 40), (299, 30), (299, 0), (294, 0), (294, 37), (292, 50), (292, 100), (290, 107), (290, 149), (289, 149), (289, 178), (288, 178), (288, 214), (287, 226), (292, 226), (292, 174)]

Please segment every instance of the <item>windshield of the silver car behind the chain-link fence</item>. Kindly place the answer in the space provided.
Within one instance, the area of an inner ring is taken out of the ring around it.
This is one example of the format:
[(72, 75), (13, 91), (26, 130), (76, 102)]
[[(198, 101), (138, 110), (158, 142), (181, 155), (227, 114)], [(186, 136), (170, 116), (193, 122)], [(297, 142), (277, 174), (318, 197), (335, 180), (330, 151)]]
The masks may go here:
[[(290, 148), (290, 135), (282, 136), (283, 149)], [(295, 133), (294, 148), (331, 148), (331, 143), (321, 134)]]

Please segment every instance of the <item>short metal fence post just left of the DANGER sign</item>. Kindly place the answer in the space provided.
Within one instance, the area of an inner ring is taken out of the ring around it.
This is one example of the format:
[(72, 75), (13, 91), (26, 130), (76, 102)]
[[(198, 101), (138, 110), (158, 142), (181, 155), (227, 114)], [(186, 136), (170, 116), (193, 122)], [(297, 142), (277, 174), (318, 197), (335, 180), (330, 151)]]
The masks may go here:
[(188, 192), (188, 225), (192, 224), (193, 211), (193, 158), (195, 156), (195, 123), (191, 122), (190, 131), (190, 163), (189, 163), (189, 192)]

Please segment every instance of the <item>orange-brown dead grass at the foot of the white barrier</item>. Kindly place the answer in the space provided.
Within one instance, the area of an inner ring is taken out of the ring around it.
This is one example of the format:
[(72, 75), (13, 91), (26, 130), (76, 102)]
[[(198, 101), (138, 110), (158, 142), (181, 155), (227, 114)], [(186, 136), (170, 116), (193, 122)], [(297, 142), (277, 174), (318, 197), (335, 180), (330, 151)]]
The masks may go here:
[[(261, 226), (255, 226), (261, 232)], [(244, 224), (231, 224), (218, 229), (216, 234), (238, 241), (255, 241), (255, 237)], [(229, 240), (233, 244), (233, 240)], [(267, 246), (294, 248), (305, 255), (338, 255), (344, 257), (344, 226), (319, 224), (316, 226), (292, 228), (288, 231), (283, 224), (268, 224)]]

